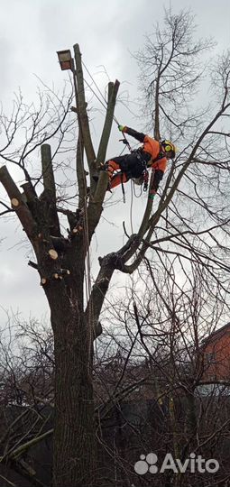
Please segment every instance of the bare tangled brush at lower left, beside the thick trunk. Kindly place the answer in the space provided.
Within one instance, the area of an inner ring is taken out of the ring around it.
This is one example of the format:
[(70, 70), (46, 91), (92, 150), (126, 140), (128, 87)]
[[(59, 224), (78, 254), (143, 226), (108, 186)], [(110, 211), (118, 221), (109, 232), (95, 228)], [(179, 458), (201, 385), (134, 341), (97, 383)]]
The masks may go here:
[(51, 479), (51, 446), (47, 444), (53, 433), (51, 329), (35, 320), (23, 323), (16, 316), (8, 317), (0, 357), (1, 483), (43, 487)]

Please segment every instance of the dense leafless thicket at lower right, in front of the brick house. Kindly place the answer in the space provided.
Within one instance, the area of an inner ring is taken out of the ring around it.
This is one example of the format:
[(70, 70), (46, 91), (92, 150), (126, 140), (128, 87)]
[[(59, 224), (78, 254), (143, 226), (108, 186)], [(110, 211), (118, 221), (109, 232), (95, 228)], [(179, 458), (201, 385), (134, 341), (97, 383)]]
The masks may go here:
[[(101, 421), (109, 405), (120, 415), (120, 429), (116, 424), (120, 431), (115, 442), (117, 468), (119, 465), (121, 477), (125, 478), (126, 472), (134, 485), (152, 485), (151, 473), (136, 477), (132, 473), (140, 455), (158, 455), (159, 470), (166, 454), (179, 458), (182, 464), (191, 454), (196, 458), (201, 455), (218, 461), (215, 477), (198, 471), (196, 465), (194, 473), (189, 467), (183, 474), (172, 469), (155, 472), (154, 482), (222, 485), (230, 475), (230, 377), (207, 377), (203, 344), (220, 323), (225, 323), (228, 293), (224, 297), (213, 282), (210, 293), (208, 271), (200, 272), (197, 264), (192, 265), (192, 273), (182, 284), (177, 271), (172, 267), (169, 271), (167, 256), (158, 265), (155, 260), (153, 265), (145, 262), (139, 279), (126, 289), (127, 299), (117, 303), (107, 317), (111, 349), (116, 346), (117, 350), (114, 384), (109, 379), (106, 357), (98, 370), (101, 387), (106, 384), (110, 392), (100, 408)], [(119, 443), (121, 436), (126, 437), (125, 449)]]

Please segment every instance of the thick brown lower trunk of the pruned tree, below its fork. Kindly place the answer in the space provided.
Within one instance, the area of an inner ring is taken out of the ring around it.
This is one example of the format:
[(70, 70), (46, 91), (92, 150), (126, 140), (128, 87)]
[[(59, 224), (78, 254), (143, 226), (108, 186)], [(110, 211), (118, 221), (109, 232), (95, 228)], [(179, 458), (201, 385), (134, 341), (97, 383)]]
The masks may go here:
[(60, 292), (55, 286), (47, 292), (55, 354), (53, 487), (90, 486), (95, 485), (92, 336), (79, 283), (57, 286)]

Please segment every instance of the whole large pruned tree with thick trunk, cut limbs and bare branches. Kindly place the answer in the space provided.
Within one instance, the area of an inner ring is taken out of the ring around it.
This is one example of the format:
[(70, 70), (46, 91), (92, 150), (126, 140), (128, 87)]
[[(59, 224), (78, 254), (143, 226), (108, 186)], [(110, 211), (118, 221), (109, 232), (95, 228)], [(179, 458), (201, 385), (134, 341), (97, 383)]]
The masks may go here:
[[(168, 12), (165, 23), (165, 30), (157, 29), (156, 47), (144, 59), (144, 72), (153, 89), (155, 137), (160, 138), (160, 125), (165, 130), (170, 124), (169, 135), (174, 135), (175, 142), (179, 139), (179, 146), (185, 144), (185, 148), (165, 178), (155, 211), (152, 213), (152, 200), (148, 199), (137, 234), (126, 234), (126, 243), (119, 250), (99, 259), (100, 271), (92, 287), (87, 279), (88, 251), (102, 215), (107, 187), (107, 174), (99, 172), (99, 165), (106, 159), (119, 83), (108, 86), (106, 120), (96, 153), (88, 123), (80, 52), (78, 44), (74, 46), (77, 75), (74, 112), (78, 120), (78, 196), (74, 207), (59, 204), (57, 171), (56, 182), (54, 179), (55, 161), (59, 162), (58, 153), (65, 142), (65, 127), (68, 128), (69, 105), (63, 106), (60, 100), (62, 115), (59, 115), (56, 104), (51, 102), (56, 116), (54, 119), (50, 116), (47, 123), (46, 117), (51, 114), (48, 106), (39, 111), (32, 107), (31, 115), (27, 114), (27, 109), (21, 115), (24, 109), (21, 101), (15, 106), (14, 115), (1, 117), (5, 141), (0, 155), (23, 170), (26, 180), (22, 185), (23, 194), (6, 166), (0, 169), (0, 181), (32, 244), (36, 262), (31, 265), (39, 272), (51, 308), (55, 361), (54, 487), (97, 484), (94, 478), (93, 341), (100, 334), (99, 317), (114, 271), (132, 274), (151, 248), (157, 255), (172, 255), (180, 269), (184, 262), (199, 262), (214, 280), (218, 280), (220, 289), (225, 289), (228, 266), (224, 258), (229, 250), (223, 238), (228, 236), (229, 216), (223, 201), (228, 194), (229, 133), (222, 123), (229, 117), (229, 57), (228, 54), (221, 57), (213, 69), (216, 95), (212, 96), (212, 102), (215, 103), (209, 110), (189, 113), (189, 100), (198, 90), (203, 73), (203, 66), (198, 70), (198, 57), (208, 44), (192, 41), (193, 23), (188, 13)], [(51, 122), (55, 129), (51, 128)], [(16, 134), (26, 123), (29, 127), (25, 130), (23, 145), (18, 148)], [(55, 140), (59, 137), (53, 155), (47, 143), (52, 137)], [(41, 175), (34, 180), (30, 175), (30, 163), (39, 146)], [(90, 188), (87, 188), (84, 152)], [(64, 162), (63, 165), (65, 167)], [(96, 174), (98, 182), (93, 178)], [(39, 196), (41, 180), (43, 191)], [(9, 211), (12, 210), (9, 208)], [(67, 234), (61, 228), (60, 216), (67, 217)]]

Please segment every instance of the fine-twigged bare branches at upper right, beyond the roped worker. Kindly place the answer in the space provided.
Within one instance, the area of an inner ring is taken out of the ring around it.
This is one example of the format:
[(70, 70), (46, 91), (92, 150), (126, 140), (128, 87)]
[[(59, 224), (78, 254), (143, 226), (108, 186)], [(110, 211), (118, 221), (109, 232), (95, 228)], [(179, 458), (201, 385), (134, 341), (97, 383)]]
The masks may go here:
[(154, 263), (167, 255), (175, 273), (189, 275), (189, 262), (197, 262), (225, 292), (230, 52), (205, 58), (212, 44), (193, 41), (194, 27), (188, 11), (165, 11), (164, 28), (157, 25), (136, 53), (148, 124), (156, 137), (179, 144), (152, 216), (150, 246)]

